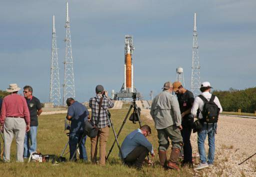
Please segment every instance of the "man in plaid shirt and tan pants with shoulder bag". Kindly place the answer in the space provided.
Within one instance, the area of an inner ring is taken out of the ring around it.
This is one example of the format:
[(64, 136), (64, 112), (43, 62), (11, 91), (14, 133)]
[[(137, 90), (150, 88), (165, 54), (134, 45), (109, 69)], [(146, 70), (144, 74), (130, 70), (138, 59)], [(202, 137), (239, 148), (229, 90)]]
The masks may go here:
[(94, 125), (97, 122), (98, 110), (99, 110), (99, 102), (100, 98), (103, 95), (103, 100), (101, 103), (100, 113), (99, 113), (99, 121), (97, 124), (98, 134), (96, 137), (90, 138), (91, 141), (91, 149), (90, 149), (90, 157), (93, 163), (97, 161), (97, 141), (99, 138), (99, 164), (105, 165), (105, 156), (106, 156), (106, 141), (109, 135), (109, 126), (110, 123), (107, 117), (107, 109), (114, 106), (114, 103), (107, 97), (107, 91), (104, 90), (102, 85), (97, 85), (95, 88), (96, 96), (91, 97), (89, 100), (89, 107), (91, 107), (91, 122)]

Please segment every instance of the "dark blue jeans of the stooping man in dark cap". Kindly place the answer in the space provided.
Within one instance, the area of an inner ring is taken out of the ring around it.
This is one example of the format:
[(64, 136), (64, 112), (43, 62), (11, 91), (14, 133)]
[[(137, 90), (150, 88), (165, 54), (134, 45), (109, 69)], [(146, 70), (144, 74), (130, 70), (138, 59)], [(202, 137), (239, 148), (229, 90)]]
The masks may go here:
[[(69, 134), (69, 149), (70, 149), (70, 157), (69, 159), (71, 159), (71, 157), (74, 155), (73, 160), (76, 159), (76, 146), (79, 143), (81, 137), (82, 137), (83, 133), (82, 132), (72, 132)], [(79, 158), (83, 159), (83, 160), (87, 160), (87, 152), (86, 152), (86, 148), (84, 146), (85, 144), (85, 140), (86, 140), (86, 136), (83, 137), (81, 144), (79, 145)]]

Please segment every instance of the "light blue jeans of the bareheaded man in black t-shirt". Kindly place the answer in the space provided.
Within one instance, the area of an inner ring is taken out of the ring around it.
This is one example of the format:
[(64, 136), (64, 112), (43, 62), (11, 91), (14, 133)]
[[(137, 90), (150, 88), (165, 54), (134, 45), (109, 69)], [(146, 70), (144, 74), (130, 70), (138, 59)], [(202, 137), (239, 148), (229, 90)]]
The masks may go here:
[(24, 157), (29, 157), (31, 152), (36, 151), (36, 134), (37, 126), (30, 126), (30, 130), (25, 133), (23, 152)]

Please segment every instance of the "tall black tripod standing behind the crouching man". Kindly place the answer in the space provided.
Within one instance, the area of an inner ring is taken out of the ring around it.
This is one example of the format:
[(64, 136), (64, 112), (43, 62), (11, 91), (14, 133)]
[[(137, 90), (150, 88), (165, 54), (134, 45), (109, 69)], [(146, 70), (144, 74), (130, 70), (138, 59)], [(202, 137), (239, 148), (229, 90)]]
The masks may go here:
[[(111, 146), (111, 148), (110, 148), (110, 150), (109, 150), (109, 152), (108, 152), (108, 154), (107, 154), (107, 156), (106, 156), (106, 160), (107, 160), (107, 158), (108, 158), (108, 156), (110, 155), (110, 153), (111, 153), (111, 151), (112, 151), (112, 149), (113, 149), (113, 147), (114, 147), (114, 144), (115, 144), (115, 142), (117, 142), (117, 146), (118, 146), (118, 148), (119, 148), (119, 150), (120, 150), (120, 145), (119, 145), (119, 143), (118, 143), (118, 140), (117, 140), (117, 138), (118, 138), (118, 136), (119, 136), (119, 134), (120, 134), (120, 132), (121, 132), (121, 130), (122, 130), (122, 128), (123, 128), (123, 126), (124, 126), (124, 123), (126, 122), (126, 119), (128, 118), (128, 116), (129, 116), (129, 113), (130, 113), (130, 111), (131, 111), (131, 109), (133, 108), (133, 116), (136, 116), (136, 118), (137, 118), (137, 121), (138, 121), (138, 124), (139, 124), (139, 127), (141, 127), (141, 121), (140, 121), (140, 118), (139, 118), (139, 112), (138, 112), (138, 106), (137, 106), (137, 104), (136, 104), (136, 97), (132, 97), (133, 98), (133, 102), (132, 102), (132, 104), (130, 105), (130, 108), (129, 108), (129, 110), (128, 110), (128, 112), (127, 112), (127, 114), (126, 114), (126, 116), (125, 116), (125, 118), (124, 118), (124, 120), (123, 120), (123, 122), (122, 122), (122, 125), (121, 125), (121, 127), (120, 127), (120, 129), (119, 129), (119, 131), (118, 131), (118, 133), (117, 133), (117, 135), (115, 135), (116, 137), (115, 137), (115, 140), (114, 140), (114, 142), (113, 142), (113, 144), (112, 144), (112, 146)], [(133, 123), (136, 123), (135, 121), (132, 121)], [(121, 150), (120, 150), (120, 154), (122, 154), (121, 153)], [(147, 158), (149, 158), (148, 156), (147, 156)], [(122, 158), (123, 159), (123, 158)]]

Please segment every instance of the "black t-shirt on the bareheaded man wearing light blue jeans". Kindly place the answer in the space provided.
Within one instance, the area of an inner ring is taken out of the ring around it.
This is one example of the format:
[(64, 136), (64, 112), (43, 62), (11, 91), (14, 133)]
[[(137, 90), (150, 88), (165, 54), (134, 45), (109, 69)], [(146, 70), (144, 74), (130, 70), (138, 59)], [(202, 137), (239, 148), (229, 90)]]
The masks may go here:
[(30, 99), (26, 99), (26, 103), (30, 113), (30, 126), (38, 126), (37, 110), (41, 109), (39, 99), (32, 96)]

